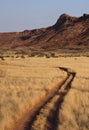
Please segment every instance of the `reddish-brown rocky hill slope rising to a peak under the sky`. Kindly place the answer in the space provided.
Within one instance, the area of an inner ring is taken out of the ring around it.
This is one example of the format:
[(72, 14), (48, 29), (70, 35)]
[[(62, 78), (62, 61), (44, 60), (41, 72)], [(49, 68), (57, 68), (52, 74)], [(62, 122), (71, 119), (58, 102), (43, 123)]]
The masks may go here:
[(23, 32), (0, 33), (0, 48), (38, 47), (42, 49), (89, 47), (89, 14), (71, 17), (62, 14), (56, 24)]

